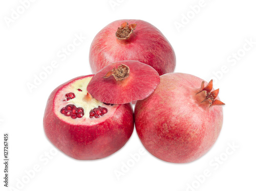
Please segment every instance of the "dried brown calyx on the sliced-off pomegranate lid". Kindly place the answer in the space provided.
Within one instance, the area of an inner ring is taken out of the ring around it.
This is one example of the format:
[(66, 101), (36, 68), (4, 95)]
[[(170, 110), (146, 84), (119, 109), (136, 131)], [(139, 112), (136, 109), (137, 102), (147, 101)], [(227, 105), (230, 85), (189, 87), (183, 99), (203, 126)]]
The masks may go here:
[(114, 76), (116, 81), (122, 81), (129, 77), (130, 74), (130, 68), (129, 66), (126, 66), (125, 64), (119, 65), (117, 68), (113, 68), (112, 70), (108, 71), (108, 73), (103, 76), (103, 78), (109, 78), (111, 76)]

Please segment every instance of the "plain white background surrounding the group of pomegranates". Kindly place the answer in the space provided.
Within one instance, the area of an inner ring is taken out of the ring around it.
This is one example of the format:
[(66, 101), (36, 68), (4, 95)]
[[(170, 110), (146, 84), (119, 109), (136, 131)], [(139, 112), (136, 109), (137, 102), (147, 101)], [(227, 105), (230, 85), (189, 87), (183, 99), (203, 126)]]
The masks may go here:
[[(1, 161), (1, 190), (256, 190), (255, 1), (205, 0), (197, 13), (191, 12), (191, 6), (199, 5), (199, 0), (112, 2), (117, 5), (112, 7), (109, 0), (38, 0), (8, 25), (13, 10), (22, 12), (23, 8), (20, 1), (1, 1), (0, 142), (9, 133), (12, 186), (3, 186)], [(184, 15), (190, 17), (188, 23)], [(145, 151), (133, 164), (131, 154), (143, 149), (134, 131), (127, 144), (110, 157), (79, 161), (54, 152), (45, 136), (42, 118), (51, 91), (74, 77), (91, 74), (89, 49), (94, 36), (108, 23), (124, 18), (148, 21), (166, 36), (176, 53), (176, 72), (206, 81), (214, 78), (214, 87), (220, 88), (221, 101), (226, 104), (223, 128), (214, 147), (200, 159), (168, 163)], [(184, 24), (179, 30), (177, 22)], [(73, 42), (75, 34), (87, 38), (61, 60), (58, 52)], [(251, 46), (246, 42), (250, 40)], [(228, 61), (235, 54), (237, 58)], [(33, 83), (35, 75), (52, 61), (58, 67), (31, 92), (27, 83)], [(238, 148), (227, 155), (227, 149), (232, 151), (230, 144)], [(133, 165), (118, 180), (115, 172), (122, 172), (127, 162)], [(39, 172), (28, 179), (26, 172), (34, 166)], [(202, 177), (205, 170), (210, 176), (199, 183), (196, 177)]]

